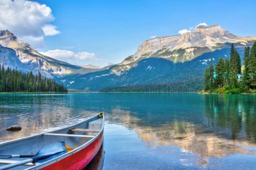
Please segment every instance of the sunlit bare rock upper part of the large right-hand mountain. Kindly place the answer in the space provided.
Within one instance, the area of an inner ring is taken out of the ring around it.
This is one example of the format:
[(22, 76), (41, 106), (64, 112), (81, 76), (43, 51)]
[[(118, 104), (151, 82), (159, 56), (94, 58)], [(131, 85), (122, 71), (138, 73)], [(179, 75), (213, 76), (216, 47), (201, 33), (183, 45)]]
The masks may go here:
[(156, 37), (144, 41), (137, 52), (119, 65), (129, 65), (143, 58), (166, 58), (174, 62), (185, 62), (218, 48), (225, 43), (243, 43), (256, 40), (256, 37), (236, 36), (219, 25), (199, 25), (194, 30), (175, 35)]

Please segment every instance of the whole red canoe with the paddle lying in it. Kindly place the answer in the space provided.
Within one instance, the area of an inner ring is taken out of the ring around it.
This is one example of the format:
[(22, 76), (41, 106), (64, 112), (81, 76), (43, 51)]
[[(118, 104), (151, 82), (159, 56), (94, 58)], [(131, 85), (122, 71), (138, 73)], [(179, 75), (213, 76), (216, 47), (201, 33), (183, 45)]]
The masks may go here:
[[(98, 153), (103, 131), (104, 114), (98, 114), (73, 126), (0, 143), (0, 169), (84, 169)], [(53, 153), (56, 143), (65, 151)]]

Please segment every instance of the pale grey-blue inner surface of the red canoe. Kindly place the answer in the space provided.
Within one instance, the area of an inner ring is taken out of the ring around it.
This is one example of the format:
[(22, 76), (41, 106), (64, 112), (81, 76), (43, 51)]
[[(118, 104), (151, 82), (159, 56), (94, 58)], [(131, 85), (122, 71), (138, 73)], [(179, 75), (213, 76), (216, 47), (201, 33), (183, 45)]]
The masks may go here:
[[(79, 135), (90, 135), (96, 136), (100, 130), (102, 130), (102, 126), (104, 124), (103, 118), (99, 118), (98, 116), (94, 116), (84, 122), (79, 124), (75, 124), (74, 126), (69, 126), (67, 128), (62, 128), (59, 130), (54, 130), (49, 133), (56, 134), (79, 134)], [(98, 132), (70, 132), (71, 129), (81, 128), (81, 129), (90, 129)], [(44, 134), (36, 134), (33, 136), (28, 136), (26, 138), (21, 138), (18, 140), (13, 140), (11, 142), (4, 142), (0, 144), (0, 155), (35, 155), (42, 146), (49, 144), (51, 142), (65, 142), (71, 148), (77, 148), (86, 144), (92, 138), (84, 138), (84, 137), (69, 137), (69, 136), (49, 136)], [(72, 152), (72, 151), (70, 151)], [(1, 159), (3, 160), (3, 159)], [(6, 160), (6, 159), (5, 159)], [(24, 159), (21, 158), (12, 158), (8, 160), (17, 160), (22, 161)], [(3, 164), (0, 164), (2, 166)], [(14, 169), (28, 169), (28, 166), (19, 166), (12, 168)]]

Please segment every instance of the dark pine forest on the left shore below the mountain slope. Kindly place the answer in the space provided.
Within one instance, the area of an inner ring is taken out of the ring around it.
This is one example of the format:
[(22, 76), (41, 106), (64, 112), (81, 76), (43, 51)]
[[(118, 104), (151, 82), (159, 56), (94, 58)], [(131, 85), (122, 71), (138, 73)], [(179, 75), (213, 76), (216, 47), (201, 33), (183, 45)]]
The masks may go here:
[(67, 88), (40, 73), (22, 73), (0, 65), (0, 92), (67, 92)]

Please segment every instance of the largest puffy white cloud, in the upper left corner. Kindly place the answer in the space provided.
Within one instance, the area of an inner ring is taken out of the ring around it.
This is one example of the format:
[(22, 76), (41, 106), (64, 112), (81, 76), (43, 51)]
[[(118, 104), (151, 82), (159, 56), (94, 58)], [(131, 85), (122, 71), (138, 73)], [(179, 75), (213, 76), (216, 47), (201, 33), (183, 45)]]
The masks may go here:
[(53, 26), (50, 7), (28, 0), (0, 1), (0, 30), (9, 30), (18, 38), (27, 40), (38, 48), (44, 44), (44, 36), (59, 34)]

